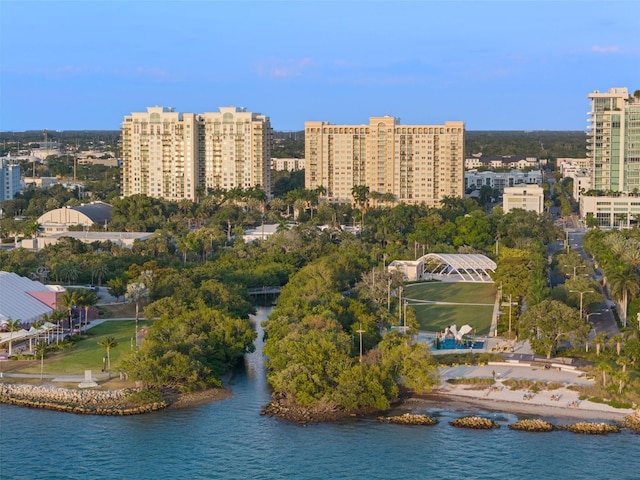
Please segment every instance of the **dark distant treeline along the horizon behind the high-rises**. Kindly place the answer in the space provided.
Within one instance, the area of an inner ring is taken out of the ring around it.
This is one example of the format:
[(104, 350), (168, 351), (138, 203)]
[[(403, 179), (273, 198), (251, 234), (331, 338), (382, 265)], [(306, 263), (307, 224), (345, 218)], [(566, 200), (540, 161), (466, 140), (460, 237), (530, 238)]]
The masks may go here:
[[(274, 132), (273, 156), (277, 158), (304, 158), (304, 132)], [(61, 144), (78, 143), (116, 145), (119, 130), (65, 130), (47, 131), (48, 141)], [(26, 132), (0, 132), (0, 142), (43, 142), (44, 130)], [(466, 132), (467, 155), (533, 155), (539, 158), (574, 157), (584, 158), (587, 152), (587, 137), (582, 131), (482, 131)]]

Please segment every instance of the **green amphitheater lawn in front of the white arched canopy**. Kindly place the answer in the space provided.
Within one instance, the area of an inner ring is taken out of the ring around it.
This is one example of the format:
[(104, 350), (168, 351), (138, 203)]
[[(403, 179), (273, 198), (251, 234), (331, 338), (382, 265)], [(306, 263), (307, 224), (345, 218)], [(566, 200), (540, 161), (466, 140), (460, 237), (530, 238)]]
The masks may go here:
[(483, 303), (479, 305), (412, 305), (420, 330), (439, 332), (449, 325), (469, 324), (478, 335), (489, 333), (496, 287), (492, 283), (429, 282), (407, 285), (404, 296), (414, 300), (453, 303)]

